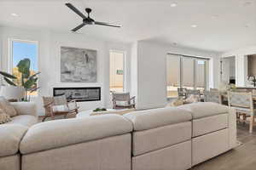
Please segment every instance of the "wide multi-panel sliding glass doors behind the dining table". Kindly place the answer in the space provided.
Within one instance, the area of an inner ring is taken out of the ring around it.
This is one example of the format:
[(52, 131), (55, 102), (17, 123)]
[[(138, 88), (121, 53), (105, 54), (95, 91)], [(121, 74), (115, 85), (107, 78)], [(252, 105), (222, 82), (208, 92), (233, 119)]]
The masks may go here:
[(177, 88), (207, 88), (208, 59), (168, 54), (166, 58), (167, 97), (177, 97)]

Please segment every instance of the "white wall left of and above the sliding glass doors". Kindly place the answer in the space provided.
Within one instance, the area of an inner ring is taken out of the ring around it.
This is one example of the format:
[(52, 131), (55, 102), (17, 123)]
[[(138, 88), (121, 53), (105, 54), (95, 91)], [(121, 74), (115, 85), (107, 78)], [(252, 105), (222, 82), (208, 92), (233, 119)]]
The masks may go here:
[[(132, 54), (131, 59), (137, 59), (137, 108), (148, 109), (163, 107), (166, 105), (166, 54), (189, 54), (211, 58), (212, 64), (218, 59), (218, 54), (192, 49), (177, 48), (167, 44), (154, 42), (137, 42), (137, 52)], [(216, 58), (215, 58), (216, 57)], [(134, 60), (136, 60), (134, 59)], [(133, 63), (131, 63), (132, 65)], [(216, 71), (211, 65), (210, 69)], [(211, 76), (212, 81), (215, 76)], [(211, 87), (214, 87), (211, 84)]]

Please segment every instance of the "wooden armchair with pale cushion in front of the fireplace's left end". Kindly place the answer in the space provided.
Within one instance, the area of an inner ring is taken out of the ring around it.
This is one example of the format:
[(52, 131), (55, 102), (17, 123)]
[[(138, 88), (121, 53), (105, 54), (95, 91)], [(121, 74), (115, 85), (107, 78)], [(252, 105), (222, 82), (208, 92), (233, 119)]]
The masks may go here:
[(42, 122), (45, 121), (47, 117), (55, 119), (55, 116), (63, 115), (65, 118), (68, 114), (78, 114), (79, 106), (75, 100), (67, 102), (66, 96), (57, 96), (57, 97), (43, 97), (44, 101), (44, 111), (45, 116)]

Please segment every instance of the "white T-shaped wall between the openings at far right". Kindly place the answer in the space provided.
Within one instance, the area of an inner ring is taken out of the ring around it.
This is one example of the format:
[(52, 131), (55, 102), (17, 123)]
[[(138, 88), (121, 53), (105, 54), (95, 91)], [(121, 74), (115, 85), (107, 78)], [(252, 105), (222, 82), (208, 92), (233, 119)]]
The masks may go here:
[(236, 86), (244, 87), (247, 81), (247, 55), (256, 54), (256, 46), (230, 50), (221, 55), (222, 58), (236, 56)]

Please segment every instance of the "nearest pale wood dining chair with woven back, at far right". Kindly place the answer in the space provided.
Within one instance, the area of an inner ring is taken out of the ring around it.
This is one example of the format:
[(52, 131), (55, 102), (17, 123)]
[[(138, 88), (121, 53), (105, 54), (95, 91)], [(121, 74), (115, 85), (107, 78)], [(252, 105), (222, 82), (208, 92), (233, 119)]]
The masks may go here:
[(228, 92), (229, 106), (236, 109), (236, 118), (243, 116), (243, 121), (247, 122), (247, 117), (250, 117), (249, 121), (249, 133), (253, 133), (254, 124), (254, 109), (253, 94), (251, 92)]

